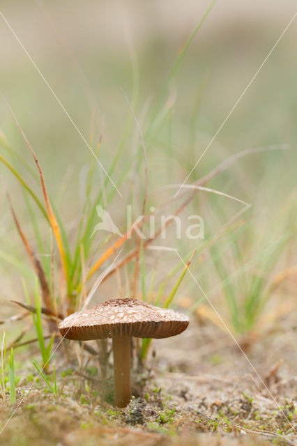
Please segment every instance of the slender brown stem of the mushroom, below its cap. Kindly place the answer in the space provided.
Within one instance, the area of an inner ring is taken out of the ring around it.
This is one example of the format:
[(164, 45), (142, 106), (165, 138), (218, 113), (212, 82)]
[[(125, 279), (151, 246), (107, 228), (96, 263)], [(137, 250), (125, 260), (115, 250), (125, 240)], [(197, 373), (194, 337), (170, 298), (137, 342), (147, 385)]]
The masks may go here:
[(131, 399), (130, 336), (112, 338), (114, 352), (114, 406), (128, 406)]

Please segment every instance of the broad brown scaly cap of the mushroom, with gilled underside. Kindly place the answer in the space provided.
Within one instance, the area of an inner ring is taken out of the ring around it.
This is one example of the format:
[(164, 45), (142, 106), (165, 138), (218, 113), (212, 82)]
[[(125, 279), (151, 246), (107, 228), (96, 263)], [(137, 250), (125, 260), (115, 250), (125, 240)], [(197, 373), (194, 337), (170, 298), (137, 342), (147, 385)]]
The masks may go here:
[(120, 336), (164, 338), (180, 334), (188, 325), (188, 316), (172, 309), (136, 299), (111, 299), (70, 314), (58, 328), (67, 339), (89, 341)]

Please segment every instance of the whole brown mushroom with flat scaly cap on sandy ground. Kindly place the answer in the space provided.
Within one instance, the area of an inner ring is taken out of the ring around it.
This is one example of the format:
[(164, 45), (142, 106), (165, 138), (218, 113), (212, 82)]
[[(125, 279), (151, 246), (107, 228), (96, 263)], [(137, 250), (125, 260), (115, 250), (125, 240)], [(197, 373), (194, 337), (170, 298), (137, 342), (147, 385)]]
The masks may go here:
[(59, 331), (63, 337), (76, 341), (112, 338), (114, 406), (123, 408), (131, 399), (131, 337), (175, 336), (188, 325), (188, 316), (172, 309), (155, 307), (136, 299), (111, 299), (93, 309), (70, 314), (59, 323)]

